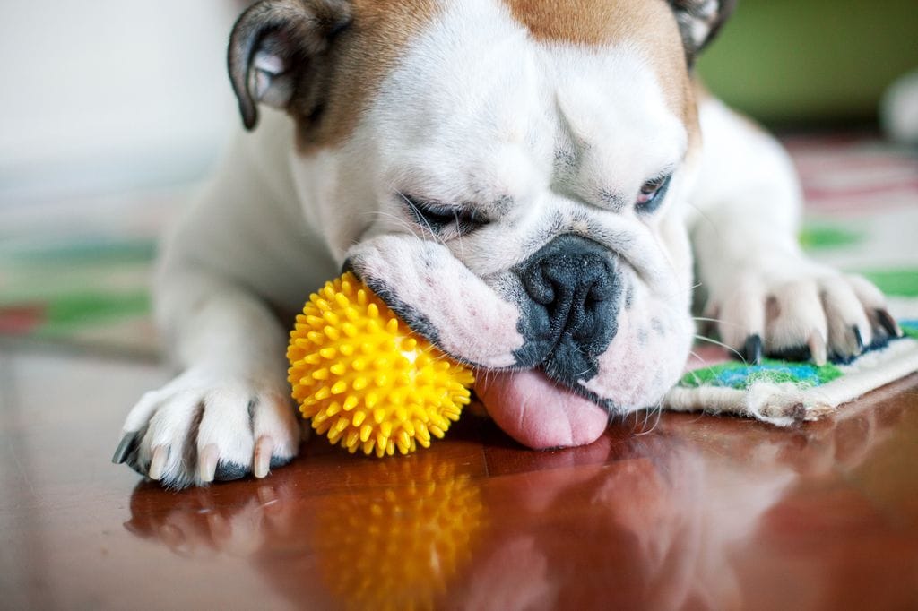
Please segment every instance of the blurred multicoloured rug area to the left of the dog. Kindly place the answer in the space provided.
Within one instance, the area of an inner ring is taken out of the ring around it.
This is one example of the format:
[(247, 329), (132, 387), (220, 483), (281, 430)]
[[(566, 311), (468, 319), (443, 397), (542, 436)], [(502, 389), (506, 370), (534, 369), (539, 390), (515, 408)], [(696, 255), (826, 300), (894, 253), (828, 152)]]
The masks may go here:
[(0, 204), (0, 340), (153, 358), (156, 240), (185, 189)]

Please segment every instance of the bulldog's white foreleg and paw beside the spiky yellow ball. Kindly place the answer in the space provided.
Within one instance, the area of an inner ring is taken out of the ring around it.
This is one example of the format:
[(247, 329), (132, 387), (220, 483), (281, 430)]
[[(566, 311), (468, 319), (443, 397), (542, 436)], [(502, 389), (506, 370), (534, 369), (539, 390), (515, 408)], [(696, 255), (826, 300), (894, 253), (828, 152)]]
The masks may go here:
[(157, 298), (182, 372), (131, 409), (114, 460), (176, 488), (263, 477), (290, 461), (300, 427), (270, 308), (217, 272), (168, 261)]

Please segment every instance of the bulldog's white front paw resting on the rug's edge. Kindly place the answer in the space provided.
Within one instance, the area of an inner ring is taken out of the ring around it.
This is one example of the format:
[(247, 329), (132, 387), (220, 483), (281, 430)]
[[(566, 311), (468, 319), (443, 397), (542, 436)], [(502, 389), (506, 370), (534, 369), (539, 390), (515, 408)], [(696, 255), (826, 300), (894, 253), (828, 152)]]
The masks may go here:
[(847, 361), (901, 336), (876, 286), (806, 260), (734, 274), (706, 309), (722, 341), (747, 362), (763, 354)]

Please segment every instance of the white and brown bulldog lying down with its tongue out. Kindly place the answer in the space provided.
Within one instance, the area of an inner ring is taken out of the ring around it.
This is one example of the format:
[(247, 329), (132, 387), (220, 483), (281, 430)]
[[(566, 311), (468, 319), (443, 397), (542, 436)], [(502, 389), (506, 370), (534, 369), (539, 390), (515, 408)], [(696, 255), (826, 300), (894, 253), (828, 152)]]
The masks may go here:
[[(733, 0), (263, 0), (229, 40), (241, 132), (165, 239), (179, 373), (114, 461), (165, 485), (264, 477), (302, 439), (288, 321), (353, 271), (476, 369), (533, 449), (660, 405), (694, 339), (822, 363), (899, 333), (809, 260), (787, 154), (693, 78)], [(256, 126), (258, 127), (257, 129)]]

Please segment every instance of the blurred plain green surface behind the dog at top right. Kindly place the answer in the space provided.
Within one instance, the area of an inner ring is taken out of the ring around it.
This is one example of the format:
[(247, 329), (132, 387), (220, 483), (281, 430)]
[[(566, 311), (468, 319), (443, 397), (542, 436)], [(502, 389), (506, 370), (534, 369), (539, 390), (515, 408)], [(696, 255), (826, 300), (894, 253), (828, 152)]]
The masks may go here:
[(918, 69), (918, 0), (739, 0), (699, 61), (711, 90), (767, 123), (863, 120)]

